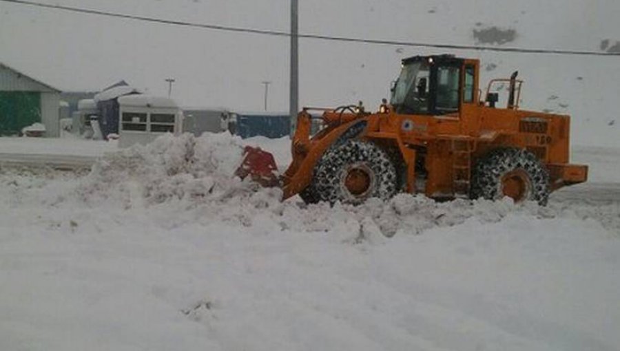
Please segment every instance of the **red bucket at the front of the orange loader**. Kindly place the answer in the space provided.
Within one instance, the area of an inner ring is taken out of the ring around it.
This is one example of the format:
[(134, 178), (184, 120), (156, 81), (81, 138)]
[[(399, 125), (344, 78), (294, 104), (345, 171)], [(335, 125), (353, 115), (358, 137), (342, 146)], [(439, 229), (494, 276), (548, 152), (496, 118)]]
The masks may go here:
[(278, 167), (271, 153), (263, 151), (260, 147), (247, 146), (243, 149), (243, 161), (235, 171), (235, 175), (241, 179), (249, 175), (251, 180), (263, 187), (278, 187), (280, 181), (276, 171)]

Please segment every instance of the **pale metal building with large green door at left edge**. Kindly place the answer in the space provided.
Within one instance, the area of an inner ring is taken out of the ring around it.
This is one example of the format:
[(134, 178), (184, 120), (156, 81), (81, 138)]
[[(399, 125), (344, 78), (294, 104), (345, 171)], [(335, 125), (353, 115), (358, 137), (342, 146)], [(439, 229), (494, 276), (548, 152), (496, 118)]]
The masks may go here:
[(17, 135), (33, 123), (45, 136), (60, 135), (60, 90), (0, 63), (0, 136)]

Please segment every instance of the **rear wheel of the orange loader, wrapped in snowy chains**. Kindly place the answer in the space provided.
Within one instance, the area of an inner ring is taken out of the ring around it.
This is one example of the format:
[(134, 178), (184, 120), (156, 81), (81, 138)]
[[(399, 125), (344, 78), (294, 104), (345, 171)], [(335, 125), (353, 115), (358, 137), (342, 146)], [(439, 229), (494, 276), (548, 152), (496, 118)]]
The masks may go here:
[(515, 202), (536, 201), (546, 205), (549, 173), (538, 158), (524, 149), (495, 149), (481, 158), (472, 174), (472, 198)]

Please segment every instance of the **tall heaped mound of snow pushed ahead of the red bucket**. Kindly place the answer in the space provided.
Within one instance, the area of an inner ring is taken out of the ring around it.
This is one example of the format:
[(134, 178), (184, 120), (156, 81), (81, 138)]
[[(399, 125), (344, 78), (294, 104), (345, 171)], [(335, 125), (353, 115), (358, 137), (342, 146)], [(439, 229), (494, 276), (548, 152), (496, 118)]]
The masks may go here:
[(120, 198), (125, 206), (143, 199), (148, 206), (171, 199), (217, 198), (249, 186), (232, 176), (241, 159), (240, 138), (230, 134), (166, 134), (145, 146), (108, 153), (78, 191), (87, 202)]

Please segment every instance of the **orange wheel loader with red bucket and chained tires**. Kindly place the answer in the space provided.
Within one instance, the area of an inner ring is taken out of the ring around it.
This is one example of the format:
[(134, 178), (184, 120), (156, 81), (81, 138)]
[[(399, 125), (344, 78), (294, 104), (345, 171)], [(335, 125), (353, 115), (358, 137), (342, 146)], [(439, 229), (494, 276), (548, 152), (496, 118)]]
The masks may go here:
[[(551, 191), (585, 182), (588, 167), (569, 163), (569, 116), (519, 109), (522, 83), (517, 72), (494, 79), (483, 101), (478, 60), (406, 58), (378, 111), (306, 107), (284, 174), (276, 177), (273, 156), (253, 148), (237, 174), (309, 203), (360, 204), (406, 191), (546, 204)], [(497, 106), (500, 93), (505, 107)], [(316, 111), (323, 127), (311, 136)]]

